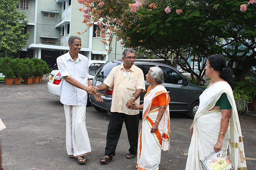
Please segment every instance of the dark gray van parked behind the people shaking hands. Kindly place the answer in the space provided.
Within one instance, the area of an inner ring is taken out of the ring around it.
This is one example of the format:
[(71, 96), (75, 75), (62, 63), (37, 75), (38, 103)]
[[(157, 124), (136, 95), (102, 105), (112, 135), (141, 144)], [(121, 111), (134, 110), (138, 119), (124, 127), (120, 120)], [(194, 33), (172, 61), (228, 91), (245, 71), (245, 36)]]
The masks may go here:
[[(96, 73), (93, 78), (93, 86), (99, 86), (104, 82), (108, 76), (111, 69), (119, 64), (122, 64), (122, 60), (108, 60)], [(171, 101), (169, 103), (170, 112), (183, 112), (189, 115), (192, 119), (197, 112), (199, 105), (199, 95), (204, 91), (203, 88), (192, 84), (187, 80), (177, 69), (158, 62), (150, 62), (145, 60), (135, 60), (134, 65), (141, 68), (144, 74), (144, 78), (147, 75), (150, 67), (159, 67), (163, 70), (164, 73), (164, 82), (168, 91)], [(146, 90), (150, 84), (145, 81)], [(107, 90), (99, 91), (104, 94), (102, 96), (103, 102), (97, 102), (93, 95), (89, 95), (90, 101), (99, 112), (107, 111), (110, 112), (111, 101), (112, 101), (112, 91), (113, 89), (109, 88)], [(140, 104), (143, 103), (143, 97), (146, 92), (141, 93), (140, 95)]]

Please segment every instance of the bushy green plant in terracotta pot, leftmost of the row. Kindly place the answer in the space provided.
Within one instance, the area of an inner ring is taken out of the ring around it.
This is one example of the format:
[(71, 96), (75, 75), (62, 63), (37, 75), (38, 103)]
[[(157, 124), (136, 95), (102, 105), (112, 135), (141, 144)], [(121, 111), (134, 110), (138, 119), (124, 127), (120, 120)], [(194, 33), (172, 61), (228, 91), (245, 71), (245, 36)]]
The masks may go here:
[(11, 69), (11, 58), (5, 57), (1, 60), (1, 63), (2, 63), (1, 71), (5, 76), (4, 83), (6, 85), (12, 85), (14, 73), (13, 73), (13, 70)]

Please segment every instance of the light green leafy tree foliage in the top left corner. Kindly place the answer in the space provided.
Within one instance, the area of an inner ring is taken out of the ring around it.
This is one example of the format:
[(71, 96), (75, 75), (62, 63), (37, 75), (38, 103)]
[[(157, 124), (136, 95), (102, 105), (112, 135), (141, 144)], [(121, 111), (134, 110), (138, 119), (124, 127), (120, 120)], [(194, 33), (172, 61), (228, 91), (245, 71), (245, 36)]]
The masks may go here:
[(17, 50), (24, 47), (28, 41), (29, 33), (22, 35), (25, 21), (24, 11), (16, 10), (17, 0), (2, 0), (0, 3), (0, 54), (11, 56)]

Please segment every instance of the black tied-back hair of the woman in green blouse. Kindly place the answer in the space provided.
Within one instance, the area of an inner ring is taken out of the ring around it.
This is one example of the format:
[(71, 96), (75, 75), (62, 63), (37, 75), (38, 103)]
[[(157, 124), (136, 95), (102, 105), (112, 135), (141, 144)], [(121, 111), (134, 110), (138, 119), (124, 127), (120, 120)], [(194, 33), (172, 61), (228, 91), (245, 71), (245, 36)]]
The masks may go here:
[(221, 77), (221, 79), (227, 81), (233, 90), (235, 87), (233, 71), (231, 68), (226, 67), (225, 58), (220, 54), (213, 54), (208, 57), (208, 61), (210, 62), (210, 66), (214, 70), (220, 71), (219, 76)]

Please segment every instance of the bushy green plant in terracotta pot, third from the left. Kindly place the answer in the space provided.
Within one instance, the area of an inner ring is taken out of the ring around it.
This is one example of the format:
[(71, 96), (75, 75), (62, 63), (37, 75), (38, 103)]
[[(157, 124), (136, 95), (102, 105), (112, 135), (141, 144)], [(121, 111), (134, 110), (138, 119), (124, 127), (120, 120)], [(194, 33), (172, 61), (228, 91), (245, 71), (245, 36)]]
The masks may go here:
[(34, 77), (33, 74), (35, 73), (34, 62), (29, 58), (25, 58), (22, 65), (23, 65), (22, 77), (24, 79), (24, 83), (31, 84)]

